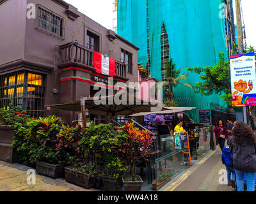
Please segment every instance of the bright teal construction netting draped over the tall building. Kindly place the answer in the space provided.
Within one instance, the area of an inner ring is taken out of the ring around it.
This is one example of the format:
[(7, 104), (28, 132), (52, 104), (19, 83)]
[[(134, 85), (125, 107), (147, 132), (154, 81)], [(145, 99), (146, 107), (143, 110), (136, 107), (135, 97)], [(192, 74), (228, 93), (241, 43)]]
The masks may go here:
[[(148, 1), (148, 2), (147, 2)], [(118, 34), (140, 48), (138, 62), (148, 62), (147, 54), (147, 3), (150, 72), (162, 80), (161, 31), (165, 25), (169, 41), (169, 58), (177, 68), (214, 66), (219, 52), (228, 55), (224, 36), (224, 23), (219, 17), (222, 0), (118, 0)], [(189, 73), (186, 80), (194, 85), (200, 78)], [(224, 104), (220, 96), (200, 96), (188, 87), (177, 85), (175, 98), (182, 99), (179, 106), (196, 106), (214, 109)], [(189, 115), (198, 122), (198, 110)]]

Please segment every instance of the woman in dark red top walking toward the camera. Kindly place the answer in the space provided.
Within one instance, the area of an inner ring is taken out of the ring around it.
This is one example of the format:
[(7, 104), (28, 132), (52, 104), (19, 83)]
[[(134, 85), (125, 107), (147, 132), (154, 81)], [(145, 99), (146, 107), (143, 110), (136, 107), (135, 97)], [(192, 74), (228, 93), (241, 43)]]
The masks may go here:
[(225, 126), (225, 123), (223, 123), (223, 120), (218, 120), (215, 128), (213, 131), (216, 134), (216, 138), (218, 140), (218, 143), (220, 145), (221, 151), (223, 150), (223, 147), (225, 146), (225, 139), (228, 140), (228, 129)]

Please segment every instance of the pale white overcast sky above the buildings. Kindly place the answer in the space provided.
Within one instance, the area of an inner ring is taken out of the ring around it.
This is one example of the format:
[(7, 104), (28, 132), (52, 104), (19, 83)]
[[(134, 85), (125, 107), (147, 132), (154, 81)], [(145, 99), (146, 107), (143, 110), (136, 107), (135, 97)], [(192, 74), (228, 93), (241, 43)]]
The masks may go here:
[[(107, 29), (113, 29), (113, 0), (65, 0)], [(213, 0), (212, 0), (213, 1)], [(246, 43), (256, 48), (256, 0), (241, 0)], [(234, 1), (235, 6), (235, 1)], [(234, 10), (235, 11), (235, 10)], [(236, 15), (236, 12), (234, 12)], [(236, 22), (235, 22), (236, 23)]]

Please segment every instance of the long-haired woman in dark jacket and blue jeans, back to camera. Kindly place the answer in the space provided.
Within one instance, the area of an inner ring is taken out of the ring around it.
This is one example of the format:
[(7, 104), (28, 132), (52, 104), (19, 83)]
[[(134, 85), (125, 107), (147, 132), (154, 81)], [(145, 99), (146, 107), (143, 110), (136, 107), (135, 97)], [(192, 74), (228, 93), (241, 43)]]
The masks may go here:
[(252, 128), (244, 122), (236, 122), (232, 136), (228, 139), (233, 151), (233, 164), (236, 171), (237, 191), (244, 191), (244, 173), (247, 191), (255, 191), (256, 173), (256, 136)]

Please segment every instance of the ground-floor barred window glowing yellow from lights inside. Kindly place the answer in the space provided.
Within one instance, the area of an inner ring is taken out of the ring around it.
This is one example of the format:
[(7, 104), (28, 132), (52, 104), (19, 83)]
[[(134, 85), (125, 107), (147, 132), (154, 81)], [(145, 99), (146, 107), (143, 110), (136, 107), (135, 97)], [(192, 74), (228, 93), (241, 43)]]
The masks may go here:
[(44, 76), (21, 71), (0, 76), (0, 108), (9, 103), (21, 106), (29, 115), (44, 116)]

